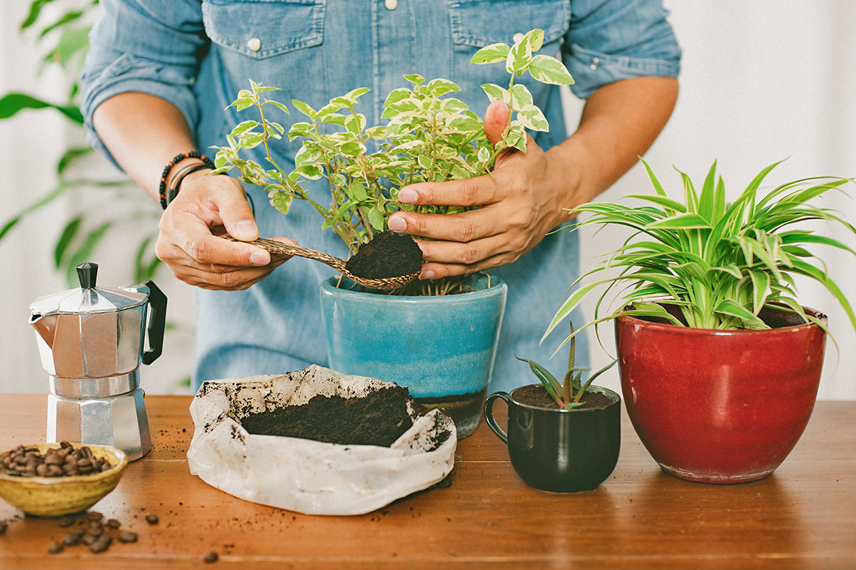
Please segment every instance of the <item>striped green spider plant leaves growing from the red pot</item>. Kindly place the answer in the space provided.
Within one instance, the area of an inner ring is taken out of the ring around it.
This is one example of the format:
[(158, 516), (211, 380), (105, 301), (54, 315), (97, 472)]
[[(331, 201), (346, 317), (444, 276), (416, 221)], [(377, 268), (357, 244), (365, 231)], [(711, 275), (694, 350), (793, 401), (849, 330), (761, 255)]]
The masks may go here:
[[(556, 312), (544, 338), (592, 291), (597, 298), (595, 318), (586, 326), (615, 319), (619, 314), (660, 317), (678, 326), (706, 329), (763, 329), (761, 309), (784, 309), (805, 322), (819, 320), (806, 314), (796, 300), (794, 276), (803, 275), (823, 284), (841, 303), (851, 324), (856, 316), (847, 298), (814, 256), (813, 244), (829, 245), (856, 255), (840, 241), (818, 235), (800, 225), (821, 220), (856, 229), (831, 209), (809, 202), (852, 179), (816, 177), (776, 186), (758, 196), (767, 174), (779, 164), (764, 168), (734, 203), (726, 202), (725, 185), (710, 167), (701, 191), (685, 173), (684, 200), (673, 200), (645, 161), (656, 193), (628, 198), (645, 205), (585, 203), (570, 211), (591, 214), (576, 226), (627, 226), (633, 236), (603, 261), (574, 281), (568, 298)], [(593, 279), (617, 272), (604, 279)], [(579, 287), (577, 287), (579, 285)], [(621, 287), (621, 307), (607, 316), (601, 305), (616, 285)], [(667, 303), (680, 309), (682, 320), (663, 309)], [(625, 309), (631, 306), (631, 309)], [(583, 326), (580, 330), (586, 328)], [(577, 331), (579, 332), (579, 331)], [(576, 334), (572, 333), (568, 339)], [(543, 339), (542, 339), (543, 340)]]

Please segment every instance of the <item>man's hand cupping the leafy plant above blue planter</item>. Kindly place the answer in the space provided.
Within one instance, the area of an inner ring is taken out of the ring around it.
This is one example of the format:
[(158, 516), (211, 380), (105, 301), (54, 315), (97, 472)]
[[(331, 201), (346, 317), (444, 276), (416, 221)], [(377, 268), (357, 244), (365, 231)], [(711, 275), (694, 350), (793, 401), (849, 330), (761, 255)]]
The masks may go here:
[[(502, 138), (508, 107), (490, 103), (484, 133), (491, 143)], [(427, 263), (420, 279), (474, 273), (515, 261), (563, 220), (562, 208), (574, 200), (574, 179), (568, 165), (544, 152), (526, 135), (526, 152), (505, 150), (493, 173), (451, 182), (409, 185), (398, 194), (414, 205), (479, 206), (462, 214), (417, 214), (400, 211), (389, 229), (438, 241), (417, 240)]]

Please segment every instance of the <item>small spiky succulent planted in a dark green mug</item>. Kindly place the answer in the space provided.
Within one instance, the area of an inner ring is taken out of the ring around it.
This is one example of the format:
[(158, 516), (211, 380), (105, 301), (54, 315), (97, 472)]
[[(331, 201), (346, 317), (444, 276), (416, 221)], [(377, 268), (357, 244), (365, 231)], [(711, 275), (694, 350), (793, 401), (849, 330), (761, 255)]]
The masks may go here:
[[(562, 382), (538, 362), (514, 355), (529, 364), (541, 384), (520, 386), (510, 394), (496, 392), (484, 402), (487, 425), (508, 444), (514, 471), (526, 485), (543, 491), (590, 491), (609, 477), (618, 461), (621, 398), (591, 385), (615, 361), (583, 384), (581, 376), (588, 368), (574, 366), (574, 352), (571, 338)], [(494, 419), (496, 398), (508, 404), (508, 432)]]

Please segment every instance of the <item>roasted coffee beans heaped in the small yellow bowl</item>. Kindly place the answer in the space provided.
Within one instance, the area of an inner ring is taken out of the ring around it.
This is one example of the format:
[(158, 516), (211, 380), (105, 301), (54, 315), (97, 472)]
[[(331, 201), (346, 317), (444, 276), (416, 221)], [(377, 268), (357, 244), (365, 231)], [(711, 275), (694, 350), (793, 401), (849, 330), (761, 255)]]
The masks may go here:
[(0, 466), (0, 473), (13, 477), (86, 475), (114, 467), (110, 461), (92, 455), (86, 445), (74, 448), (67, 441), (61, 442), (58, 449), (46, 450), (44, 455), (35, 447), (19, 445), (0, 455)]

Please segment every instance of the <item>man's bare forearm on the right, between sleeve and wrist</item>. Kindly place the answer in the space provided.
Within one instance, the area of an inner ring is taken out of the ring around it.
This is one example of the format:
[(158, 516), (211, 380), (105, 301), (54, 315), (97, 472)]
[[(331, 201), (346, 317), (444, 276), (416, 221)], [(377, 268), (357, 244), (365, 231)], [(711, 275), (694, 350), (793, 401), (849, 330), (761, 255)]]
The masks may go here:
[(563, 208), (590, 202), (633, 167), (663, 130), (677, 95), (677, 79), (666, 77), (624, 79), (592, 93), (577, 131), (548, 153), (573, 170), (574, 196), (567, 198), (574, 203)]

